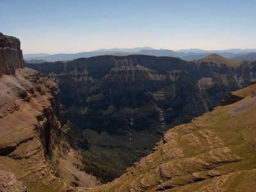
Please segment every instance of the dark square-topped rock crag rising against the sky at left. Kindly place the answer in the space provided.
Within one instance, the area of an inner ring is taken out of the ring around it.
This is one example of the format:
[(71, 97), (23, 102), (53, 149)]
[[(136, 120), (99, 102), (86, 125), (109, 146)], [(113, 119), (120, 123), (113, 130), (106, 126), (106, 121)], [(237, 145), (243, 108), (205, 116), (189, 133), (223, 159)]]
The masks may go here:
[(23, 68), (20, 40), (0, 33), (0, 76), (15, 74), (16, 68)]

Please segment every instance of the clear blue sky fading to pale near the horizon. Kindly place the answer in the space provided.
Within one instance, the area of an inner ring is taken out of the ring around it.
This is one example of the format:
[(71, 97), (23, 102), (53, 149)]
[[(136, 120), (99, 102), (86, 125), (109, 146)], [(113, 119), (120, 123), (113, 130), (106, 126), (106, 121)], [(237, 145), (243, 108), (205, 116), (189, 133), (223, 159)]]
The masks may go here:
[(255, 0), (0, 0), (24, 53), (100, 48), (256, 48)]

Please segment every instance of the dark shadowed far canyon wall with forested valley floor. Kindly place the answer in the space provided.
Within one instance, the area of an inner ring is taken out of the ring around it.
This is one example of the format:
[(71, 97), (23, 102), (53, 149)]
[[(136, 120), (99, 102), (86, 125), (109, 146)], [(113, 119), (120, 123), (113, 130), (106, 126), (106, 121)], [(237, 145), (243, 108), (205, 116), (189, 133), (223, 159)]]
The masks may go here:
[(234, 67), (212, 58), (97, 56), (27, 66), (58, 83), (68, 119), (90, 143), (88, 171), (109, 181), (148, 154), (167, 128), (211, 110), (256, 77), (255, 62)]

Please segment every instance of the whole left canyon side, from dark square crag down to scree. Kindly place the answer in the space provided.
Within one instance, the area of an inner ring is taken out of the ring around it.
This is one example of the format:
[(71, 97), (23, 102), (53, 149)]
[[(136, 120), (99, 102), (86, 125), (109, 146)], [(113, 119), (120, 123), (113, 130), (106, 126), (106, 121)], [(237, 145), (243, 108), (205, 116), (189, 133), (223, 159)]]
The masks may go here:
[(0, 42), (0, 191), (65, 191), (99, 184), (83, 172), (80, 155), (63, 138), (66, 120), (57, 84), (22, 68), (17, 38), (4, 36)]

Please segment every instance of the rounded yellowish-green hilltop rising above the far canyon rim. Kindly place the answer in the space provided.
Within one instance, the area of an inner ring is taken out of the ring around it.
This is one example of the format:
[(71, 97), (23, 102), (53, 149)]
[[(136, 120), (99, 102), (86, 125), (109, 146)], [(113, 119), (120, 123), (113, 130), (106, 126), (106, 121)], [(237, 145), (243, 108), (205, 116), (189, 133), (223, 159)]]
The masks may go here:
[(228, 67), (239, 67), (239, 65), (243, 63), (243, 61), (225, 58), (223, 56), (220, 56), (219, 54), (209, 54), (198, 61), (213, 62), (217, 63), (218, 65), (225, 64)]

